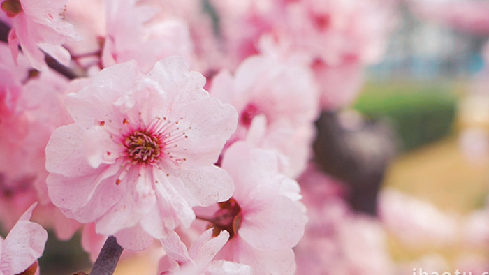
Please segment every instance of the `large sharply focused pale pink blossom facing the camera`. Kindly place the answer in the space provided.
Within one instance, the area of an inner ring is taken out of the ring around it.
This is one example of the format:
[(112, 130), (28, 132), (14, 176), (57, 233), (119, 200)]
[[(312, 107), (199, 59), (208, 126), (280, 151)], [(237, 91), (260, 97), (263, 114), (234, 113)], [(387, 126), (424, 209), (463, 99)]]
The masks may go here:
[(188, 227), (191, 207), (227, 200), (231, 178), (213, 163), (237, 116), (204, 84), (180, 57), (147, 75), (131, 61), (73, 82), (78, 94), (66, 104), (75, 123), (57, 128), (46, 147), (54, 205), (138, 250)]

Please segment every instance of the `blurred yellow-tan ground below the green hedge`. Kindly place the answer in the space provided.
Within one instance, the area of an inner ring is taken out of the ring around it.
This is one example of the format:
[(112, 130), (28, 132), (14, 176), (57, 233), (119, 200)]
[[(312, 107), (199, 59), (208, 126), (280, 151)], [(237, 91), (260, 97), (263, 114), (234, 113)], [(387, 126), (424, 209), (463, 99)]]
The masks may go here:
[[(384, 186), (431, 202), (441, 211), (463, 216), (483, 206), (489, 191), (489, 159), (469, 161), (462, 154), (457, 137), (447, 137), (395, 159)], [(489, 251), (470, 251), (460, 243), (409, 248), (392, 236), (388, 237), (388, 248), (393, 259), (400, 261), (434, 253), (452, 263), (465, 253), (489, 257)]]

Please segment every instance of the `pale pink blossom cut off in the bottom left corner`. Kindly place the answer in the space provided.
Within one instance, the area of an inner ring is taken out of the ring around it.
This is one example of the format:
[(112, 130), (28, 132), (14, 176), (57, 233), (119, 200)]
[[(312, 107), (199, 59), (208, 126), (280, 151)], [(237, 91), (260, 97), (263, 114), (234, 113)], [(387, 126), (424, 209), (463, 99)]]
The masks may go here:
[(0, 274), (20, 274), (26, 269), (37, 269), (36, 260), (43, 255), (48, 232), (37, 223), (29, 221), (31, 205), (19, 218), (5, 239), (0, 237)]

